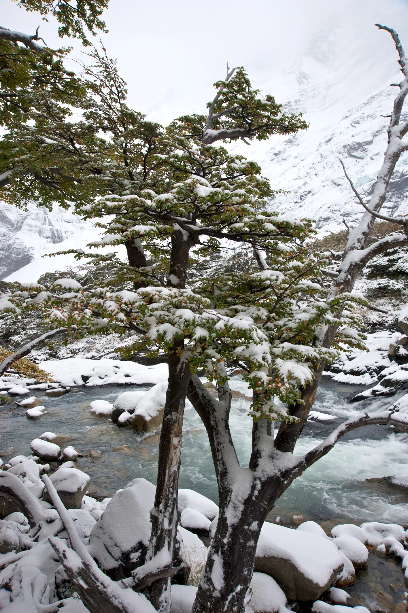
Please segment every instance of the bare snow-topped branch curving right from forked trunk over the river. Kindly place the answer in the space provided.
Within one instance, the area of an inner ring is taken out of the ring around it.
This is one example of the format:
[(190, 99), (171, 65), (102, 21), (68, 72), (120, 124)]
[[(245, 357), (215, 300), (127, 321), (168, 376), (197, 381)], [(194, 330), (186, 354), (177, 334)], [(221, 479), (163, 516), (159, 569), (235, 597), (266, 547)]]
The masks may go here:
[(326, 455), (330, 449), (333, 449), (337, 441), (339, 441), (342, 436), (348, 432), (352, 432), (352, 430), (361, 428), (365, 425), (374, 424), (396, 425), (399, 428), (403, 426), (408, 431), (408, 415), (400, 415), (399, 413), (394, 413), (393, 411), (384, 411), (383, 413), (375, 413), (371, 415), (364, 413), (362, 416), (348, 419), (347, 422), (339, 425), (339, 427), (336, 428), (336, 430), (334, 430), (322, 443), (320, 443), (320, 445), (314, 447), (312, 451), (309, 451), (309, 453), (304, 456), (306, 467), (311, 466), (317, 462), (317, 460), (323, 457), (323, 455)]

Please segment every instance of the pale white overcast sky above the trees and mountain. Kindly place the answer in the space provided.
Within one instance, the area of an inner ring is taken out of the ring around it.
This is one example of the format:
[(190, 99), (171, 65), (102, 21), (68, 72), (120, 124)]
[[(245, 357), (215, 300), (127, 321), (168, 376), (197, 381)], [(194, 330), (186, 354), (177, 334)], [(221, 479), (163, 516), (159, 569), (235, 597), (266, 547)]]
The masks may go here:
[[(0, 8), (2, 26), (31, 33), (40, 23), (47, 44), (61, 45), (52, 20), (12, 0)], [(310, 39), (334, 31), (333, 73), (347, 66), (350, 88), (368, 94), (398, 70), (395, 48), (374, 23), (396, 28), (408, 44), (407, 0), (110, 0), (104, 17), (102, 42), (128, 82), (130, 104), (163, 123), (202, 112), (226, 61), (244, 64), (254, 85), (282, 99), (294, 91), (288, 74)], [(62, 42), (80, 57), (77, 40)]]

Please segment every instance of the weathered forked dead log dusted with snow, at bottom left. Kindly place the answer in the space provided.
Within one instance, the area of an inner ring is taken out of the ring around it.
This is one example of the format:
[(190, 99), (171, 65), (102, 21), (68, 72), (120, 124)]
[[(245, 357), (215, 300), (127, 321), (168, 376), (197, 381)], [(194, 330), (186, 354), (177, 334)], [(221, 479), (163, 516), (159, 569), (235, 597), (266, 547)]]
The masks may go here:
[(52, 482), (46, 474), (42, 476), (42, 480), (53, 506), (61, 517), (72, 549), (56, 536), (50, 536), (48, 540), (83, 604), (91, 613), (156, 613), (156, 609), (145, 596), (134, 592), (131, 588), (120, 587), (102, 573), (79, 538), (74, 521), (61, 502)]

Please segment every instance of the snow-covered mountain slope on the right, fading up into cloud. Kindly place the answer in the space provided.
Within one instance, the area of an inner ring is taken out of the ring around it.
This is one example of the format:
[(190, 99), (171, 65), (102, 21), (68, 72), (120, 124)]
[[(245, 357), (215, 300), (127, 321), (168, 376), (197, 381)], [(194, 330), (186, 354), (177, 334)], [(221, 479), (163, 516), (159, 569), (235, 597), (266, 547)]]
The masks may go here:
[[(382, 36), (384, 32), (376, 32)], [(382, 45), (385, 43), (385, 47)], [(348, 49), (345, 48), (347, 45)], [(380, 46), (381, 45), (381, 46)], [(373, 52), (374, 51), (374, 52)], [(387, 142), (388, 115), (401, 80), (390, 40), (379, 38), (377, 53), (344, 28), (316, 32), (293, 69), (263, 91), (284, 99), (285, 112), (303, 112), (307, 131), (268, 142), (233, 148), (261, 164), (280, 194), (271, 208), (294, 217), (315, 219), (320, 230), (337, 230), (342, 219), (355, 224), (361, 215), (339, 162), (342, 158), (362, 196), (369, 196)], [(407, 158), (402, 156), (384, 210), (406, 212)]]

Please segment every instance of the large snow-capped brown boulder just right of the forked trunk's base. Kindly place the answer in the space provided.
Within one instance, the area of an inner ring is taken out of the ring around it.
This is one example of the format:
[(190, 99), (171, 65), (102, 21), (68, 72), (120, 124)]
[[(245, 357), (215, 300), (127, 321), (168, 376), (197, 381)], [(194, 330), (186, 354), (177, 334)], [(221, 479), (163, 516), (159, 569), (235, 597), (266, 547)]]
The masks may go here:
[(269, 574), (291, 600), (317, 600), (336, 579), (343, 560), (336, 545), (306, 531), (265, 522), (255, 571)]

